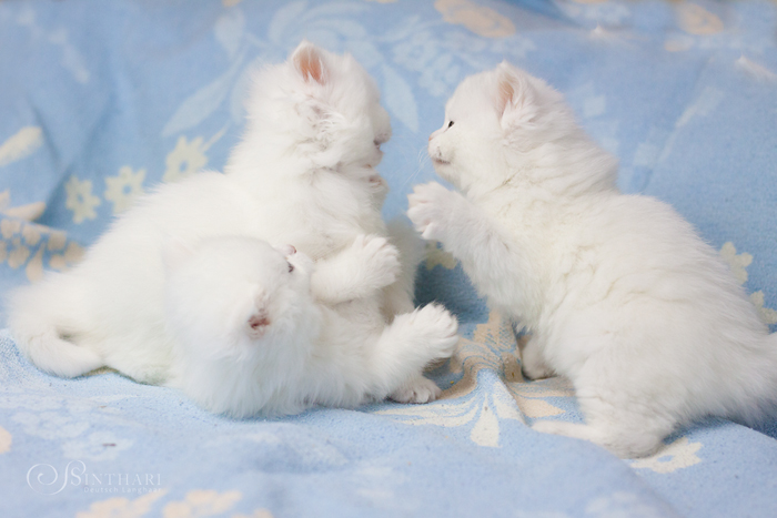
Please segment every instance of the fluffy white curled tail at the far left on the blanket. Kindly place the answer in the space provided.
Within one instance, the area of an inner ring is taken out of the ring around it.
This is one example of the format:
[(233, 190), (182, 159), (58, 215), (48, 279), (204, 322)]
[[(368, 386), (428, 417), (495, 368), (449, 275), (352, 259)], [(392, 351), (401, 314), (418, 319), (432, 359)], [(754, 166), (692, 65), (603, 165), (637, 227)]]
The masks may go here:
[(104, 365), (93, 351), (60, 336), (83, 329), (79, 323), (83, 297), (74, 281), (51, 275), (39, 284), (17, 288), (8, 302), (8, 327), (19, 351), (41, 370), (68, 378)]

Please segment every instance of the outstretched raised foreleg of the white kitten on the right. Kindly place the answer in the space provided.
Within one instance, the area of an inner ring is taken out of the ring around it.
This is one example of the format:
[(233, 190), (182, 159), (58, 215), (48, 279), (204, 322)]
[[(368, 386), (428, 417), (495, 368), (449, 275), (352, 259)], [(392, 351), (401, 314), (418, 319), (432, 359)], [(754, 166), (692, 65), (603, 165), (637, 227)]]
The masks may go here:
[(407, 200), (407, 216), (422, 237), (441, 242), (492, 305), (511, 315), (525, 311), (522, 303), (534, 298), (537, 275), (515, 237), (508, 238), (481, 207), (436, 182), (416, 185)]

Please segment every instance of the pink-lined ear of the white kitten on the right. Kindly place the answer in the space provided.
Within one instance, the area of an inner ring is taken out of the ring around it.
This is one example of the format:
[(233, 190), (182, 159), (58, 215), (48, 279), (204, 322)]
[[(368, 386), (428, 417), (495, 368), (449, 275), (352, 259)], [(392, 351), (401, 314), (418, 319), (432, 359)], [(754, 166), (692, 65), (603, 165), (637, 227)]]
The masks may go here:
[(531, 84), (523, 73), (506, 61), (496, 68), (494, 106), (505, 129), (532, 122), (536, 115)]

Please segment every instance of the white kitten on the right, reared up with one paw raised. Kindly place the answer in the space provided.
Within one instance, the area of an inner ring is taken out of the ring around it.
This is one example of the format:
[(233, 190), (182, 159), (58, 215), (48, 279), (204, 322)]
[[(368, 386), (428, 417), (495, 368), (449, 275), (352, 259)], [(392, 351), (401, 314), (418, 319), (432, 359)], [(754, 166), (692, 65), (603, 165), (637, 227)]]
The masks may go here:
[(718, 254), (668, 205), (616, 187), (616, 160), (559, 93), (503, 63), (465, 79), (416, 187), (416, 228), (533, 333), (533, 378), (572, 379), (586, 424), (534, 428), (622, 457), (705, 415), (751, 423), (777, 397), (777, 338)]

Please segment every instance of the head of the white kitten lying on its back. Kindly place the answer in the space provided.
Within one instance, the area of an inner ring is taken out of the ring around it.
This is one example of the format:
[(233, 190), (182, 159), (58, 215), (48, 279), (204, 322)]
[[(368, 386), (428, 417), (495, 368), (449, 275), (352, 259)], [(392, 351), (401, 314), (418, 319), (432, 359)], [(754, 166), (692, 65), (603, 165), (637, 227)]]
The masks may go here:
[(293, 246), (236, 236), (195, 248), (169, 242), (164, 262), (168, 326), (188, 354), (274, 356), (269, 349), (304, 334), (312, 261)]

